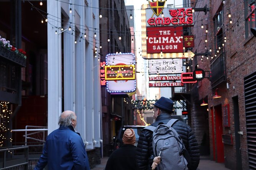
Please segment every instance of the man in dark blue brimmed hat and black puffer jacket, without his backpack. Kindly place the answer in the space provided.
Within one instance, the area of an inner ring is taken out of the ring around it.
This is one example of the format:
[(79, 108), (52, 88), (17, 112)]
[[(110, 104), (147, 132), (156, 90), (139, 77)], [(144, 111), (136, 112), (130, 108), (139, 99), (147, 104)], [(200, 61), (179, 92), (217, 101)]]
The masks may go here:
[[(166, 124), (173, 113), (173, 101), (171, 99), (161, 97), (154, 105), (154, 120), (151, 126), (157, 127), (160, 124)], [(199, 164), (200, 153), (199, 145), (192, 132), (191, 128), (184, 122), (178, 120), (172, 126), (183, 140), (184, 146), (187, 149), (191, 161), (188, 164), (189, 170), (196, 170)], [(136, 162), (139, 170), (151, 170), (154, 154), (152, 148), (153, 132), (144, 129), (140, 133), (137, 149)], [(171, 158), (170, 158), (171, 159)]]

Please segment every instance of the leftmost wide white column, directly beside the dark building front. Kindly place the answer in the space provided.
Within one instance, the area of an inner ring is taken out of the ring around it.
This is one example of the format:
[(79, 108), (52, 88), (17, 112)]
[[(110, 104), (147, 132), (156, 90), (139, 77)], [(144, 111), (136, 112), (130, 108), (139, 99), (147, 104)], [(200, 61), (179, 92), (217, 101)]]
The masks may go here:
[(47, 0), (47, 13), (56, 18), (48, 18), (48, 134), (58, 128), (59, 115), (62, 112), (61, 79), (61, 34), (55, 30), (61, 27), (61, 8), (59, 1)]

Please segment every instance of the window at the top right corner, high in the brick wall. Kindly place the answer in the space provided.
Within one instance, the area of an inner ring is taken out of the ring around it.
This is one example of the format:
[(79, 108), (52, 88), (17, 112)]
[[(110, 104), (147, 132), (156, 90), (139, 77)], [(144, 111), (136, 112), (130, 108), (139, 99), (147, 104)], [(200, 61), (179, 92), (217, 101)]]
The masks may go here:
[(245, 0), (245, 38), (251, 37), (251, 28), (255, 27), (255, 2)]

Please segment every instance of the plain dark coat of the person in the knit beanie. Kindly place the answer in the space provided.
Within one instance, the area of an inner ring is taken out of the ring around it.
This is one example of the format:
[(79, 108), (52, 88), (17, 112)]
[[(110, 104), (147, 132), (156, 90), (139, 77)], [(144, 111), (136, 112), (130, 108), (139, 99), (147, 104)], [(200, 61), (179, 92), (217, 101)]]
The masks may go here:
[(136, 146), (124, 144), (108, 158), (105, 170), (136, 170)]

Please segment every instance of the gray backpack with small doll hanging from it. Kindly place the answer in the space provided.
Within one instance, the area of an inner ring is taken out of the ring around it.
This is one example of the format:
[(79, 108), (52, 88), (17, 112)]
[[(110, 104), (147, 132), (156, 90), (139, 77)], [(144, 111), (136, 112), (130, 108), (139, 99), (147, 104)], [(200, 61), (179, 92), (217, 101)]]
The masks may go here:
[(161, 156), (161, 162), (157, 166), (158, 170), (185, 170), (188, 165), (185, 158), (188, 156), (188, 151), (179, 134), (171, 127), (177, 120), (171, 119), (166, 125), (144, 128), (153, 132), (153, 152), (155, 156)]

